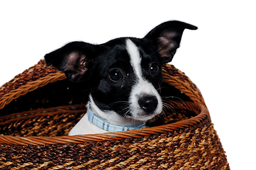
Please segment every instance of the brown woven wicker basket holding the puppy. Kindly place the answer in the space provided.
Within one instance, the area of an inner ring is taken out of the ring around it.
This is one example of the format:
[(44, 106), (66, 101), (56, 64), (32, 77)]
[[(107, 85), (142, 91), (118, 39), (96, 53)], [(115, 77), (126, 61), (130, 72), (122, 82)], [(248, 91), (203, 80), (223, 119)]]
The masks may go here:
[(87, 84), (44, 60), (18, 74), (0, 88), (0, 169), (230, 169), (199, 89), (162, 68), (165, 112), (150, 128), (75, 136)]

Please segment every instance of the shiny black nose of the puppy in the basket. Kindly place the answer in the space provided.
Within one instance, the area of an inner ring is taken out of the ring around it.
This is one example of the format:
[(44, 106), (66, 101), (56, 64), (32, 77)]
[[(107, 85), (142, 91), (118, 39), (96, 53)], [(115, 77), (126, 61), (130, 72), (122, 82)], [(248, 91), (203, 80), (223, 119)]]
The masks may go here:
[(140, 108), (147, 114), (152, 114), (157, 108), (158, 101), (156, 96), (143, 96), (138, 100)]

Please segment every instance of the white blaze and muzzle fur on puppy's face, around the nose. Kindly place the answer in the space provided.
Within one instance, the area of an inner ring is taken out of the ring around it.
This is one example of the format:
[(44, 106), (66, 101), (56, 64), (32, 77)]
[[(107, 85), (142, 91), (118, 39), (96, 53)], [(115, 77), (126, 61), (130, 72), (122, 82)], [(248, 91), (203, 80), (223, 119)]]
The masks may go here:
[[(133, 72), (135, 73), (137, 81), (137, 83), (133, 86), (129, 98), (130, 113), (133, 114), (133, 118), (135, 118), (135, 120), (146, 121), (162, 112), (162, 99), (158, 94), (157, 90), (155, 89), (155, 87), (143, 78), (141, 68), (141, 57), (138, 47), (130, 39), (126, 40), (126, 47), (128, 54), (130, 55), (130, 64), (133, 67)], [(138, 104), (138, 96), (141, 96), (143, 94), (148, 94), (157, 97), (158, 105), (155, 110), (155, 113), (152, 115), (145, 116), (144, 111), (140, 108)]]

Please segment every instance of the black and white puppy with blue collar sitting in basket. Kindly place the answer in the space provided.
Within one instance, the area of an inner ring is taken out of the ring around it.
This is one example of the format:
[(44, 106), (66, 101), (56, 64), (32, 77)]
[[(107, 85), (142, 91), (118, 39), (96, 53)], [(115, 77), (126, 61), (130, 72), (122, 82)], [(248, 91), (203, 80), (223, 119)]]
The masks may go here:
[(70, 42), (45, 55), (48, 65), (71, 81), (89, 86), (87, 114), (69, 135), (145, 128), (162, 112), (162, 64), (171, 62), (184, 29), (196, 26), (167, 21), (144, 38), (116, 38), (101, 45)]

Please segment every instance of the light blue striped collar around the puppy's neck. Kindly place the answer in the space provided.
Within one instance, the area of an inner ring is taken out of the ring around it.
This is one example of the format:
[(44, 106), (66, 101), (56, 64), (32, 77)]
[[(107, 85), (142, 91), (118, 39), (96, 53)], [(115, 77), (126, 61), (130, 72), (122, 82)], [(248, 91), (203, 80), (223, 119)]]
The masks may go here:
[(105, 120), (99, 118), (97, 115), (91, 111), (90, 108), (87, 109), (88, 120), (90, 123), (94, 123), (94, 125), (99, 128), (106, 130), (108, 132), (120, 132), (126, 130), (135, 130), (140, 128), (145, 128), (145, 123), (138, 126), (121, 126), (121, 125), (112, 125), (111, 123), (106, 122)]

